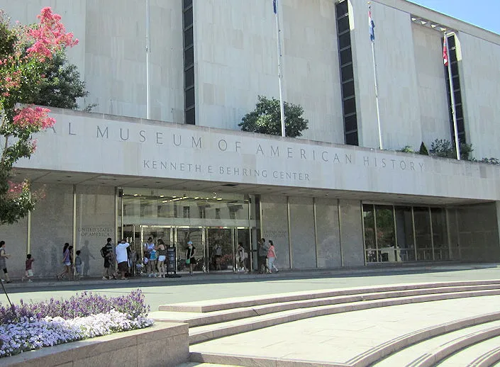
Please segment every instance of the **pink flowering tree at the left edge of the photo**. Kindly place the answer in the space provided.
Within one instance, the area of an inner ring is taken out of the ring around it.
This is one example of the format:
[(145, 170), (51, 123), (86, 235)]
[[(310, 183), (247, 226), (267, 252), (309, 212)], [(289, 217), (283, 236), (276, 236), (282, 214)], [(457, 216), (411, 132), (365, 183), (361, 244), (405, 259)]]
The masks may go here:
[(66, 47), (77, 45), (61, 17), (42, 9), (39, 23), (9, 26), (0, 11), (0, 224), (24, 218), (35, 206), (27, 180), (12, 179), (13, 165), (35, 152), (33, 135), (55, 124), (48, 108), (31, 106), (45, 78), (44, 62)]

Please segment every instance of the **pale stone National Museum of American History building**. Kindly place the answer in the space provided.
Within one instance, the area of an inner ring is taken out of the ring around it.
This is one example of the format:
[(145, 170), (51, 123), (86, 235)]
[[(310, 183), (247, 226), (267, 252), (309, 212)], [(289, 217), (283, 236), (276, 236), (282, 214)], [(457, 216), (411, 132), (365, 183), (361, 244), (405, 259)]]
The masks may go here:
[[(14, 278), (27, 253), (54, 276), (65, 242), (98, 276), (106, 237), (135, 259), (162, 239), (179, 272), (189, 240), (195, 271), (238, 271), (240, 242), (255, 270), (261, 237), (279, 269), (500, 261), (500, 166), (397, 152), (456, 135), (474, 159), (500, 158), (500, 35), (378, 0), (372, 43), (366, 1), (280, 0), (283, 96), (309, 120), (291, 138), (238, 127), (257, 96), (279, 96), (271, 0), (44, 5), (79, 38), (79, 104), (96, 106), (51, 108), (56, 125), (16, 164), (43, 198), (1, 227)], [(0, 0), (21, 23), (39, 8)]]

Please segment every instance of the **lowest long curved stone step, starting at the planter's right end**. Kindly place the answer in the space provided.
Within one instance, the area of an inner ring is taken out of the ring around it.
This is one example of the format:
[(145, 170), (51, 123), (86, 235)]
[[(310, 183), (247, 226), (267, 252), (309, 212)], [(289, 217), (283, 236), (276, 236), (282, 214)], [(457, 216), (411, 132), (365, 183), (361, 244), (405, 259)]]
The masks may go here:
[(189, 328), (189, 344), (227, 337), (229, 335), (262, 329), (284, 322), (302, 320), (309, 317), (332, 315), (339, 312), (355, 310), (366, 310), (368, 308), (385, 307), (391, 305), (403, 305), (408, 303), (430, 302), (433, 300), (446, 300), (453, 298), (478, 297), (482, 295), (499, 295), (500, 289), (493, 290), (471, 290), (455, 293), (438, 293), (430, 295), (411, 295), (406, 297), (384, 298), (381, 300), (362, 300), (340, 305), (323, 305), (294, 310), (274, 312), (268, 315), (246, 317), (244, 319), (228, 322), (218, 322), (199, 327)]

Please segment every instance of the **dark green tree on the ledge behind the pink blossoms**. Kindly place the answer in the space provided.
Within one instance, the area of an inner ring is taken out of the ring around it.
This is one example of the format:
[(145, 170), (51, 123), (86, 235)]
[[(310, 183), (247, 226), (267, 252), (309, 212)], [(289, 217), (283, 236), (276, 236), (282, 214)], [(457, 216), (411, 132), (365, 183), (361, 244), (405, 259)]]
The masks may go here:
[[(42, 73), (45, 78), (30, 103), (75, 110), (78, 108), (77, 98), (89, 95), (85, 82), (80, 80), (77, 66), (68, 62), (65, 52), (57, 52), (52, 60), (46, 60)], [(91, 111), (93, 107), (95, 105), (89, 105), (84, 110)]]

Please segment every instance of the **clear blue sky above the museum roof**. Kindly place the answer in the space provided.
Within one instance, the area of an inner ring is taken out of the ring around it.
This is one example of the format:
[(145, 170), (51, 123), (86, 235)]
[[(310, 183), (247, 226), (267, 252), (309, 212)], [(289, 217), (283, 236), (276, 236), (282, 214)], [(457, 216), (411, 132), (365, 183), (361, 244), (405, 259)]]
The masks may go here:
[(500, 34), (500, 0), (409, 0)]

